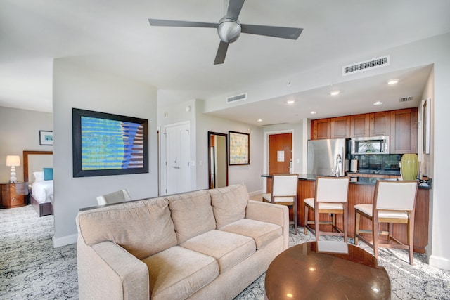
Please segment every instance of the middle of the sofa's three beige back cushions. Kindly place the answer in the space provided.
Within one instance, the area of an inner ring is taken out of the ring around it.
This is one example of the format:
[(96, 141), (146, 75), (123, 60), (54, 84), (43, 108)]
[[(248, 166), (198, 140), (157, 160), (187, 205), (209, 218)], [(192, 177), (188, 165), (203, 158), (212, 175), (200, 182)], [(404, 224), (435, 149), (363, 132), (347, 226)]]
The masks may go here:
[(216, 229), (210, 193), (206, 190), (167, 197), (179, 244)]

